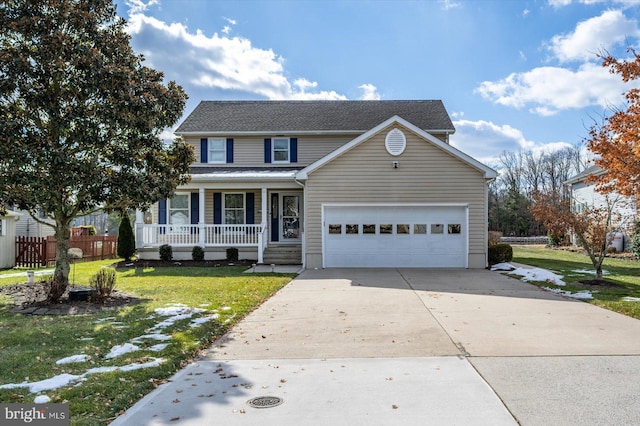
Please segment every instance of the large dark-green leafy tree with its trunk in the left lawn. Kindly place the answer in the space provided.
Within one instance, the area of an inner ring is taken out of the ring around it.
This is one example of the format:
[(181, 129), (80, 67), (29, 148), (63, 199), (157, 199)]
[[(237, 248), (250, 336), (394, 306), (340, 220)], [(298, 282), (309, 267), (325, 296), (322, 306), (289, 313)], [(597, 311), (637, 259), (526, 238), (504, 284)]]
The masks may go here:
[(0, 28), (0, 205), (53, 226), (55, 302), (74, 218), (146, 209), (188, 181), (193, 150), (160, 139), (187, 95), (134, 54), (111, 0), (2, 1)]

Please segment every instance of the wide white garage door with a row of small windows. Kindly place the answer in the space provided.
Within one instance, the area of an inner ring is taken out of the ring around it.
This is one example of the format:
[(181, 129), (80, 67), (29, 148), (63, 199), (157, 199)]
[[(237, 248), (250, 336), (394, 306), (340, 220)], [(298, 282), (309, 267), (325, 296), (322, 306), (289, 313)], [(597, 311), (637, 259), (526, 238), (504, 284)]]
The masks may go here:
[(325, 205), (330, 267), (467, 267), (466, 205)]

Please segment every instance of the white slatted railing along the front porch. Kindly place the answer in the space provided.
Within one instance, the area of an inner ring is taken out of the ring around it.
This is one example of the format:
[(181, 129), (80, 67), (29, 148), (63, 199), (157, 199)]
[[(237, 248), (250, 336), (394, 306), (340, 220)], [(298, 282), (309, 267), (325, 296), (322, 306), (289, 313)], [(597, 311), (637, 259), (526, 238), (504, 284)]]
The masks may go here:
[[(138, 246), (159, 247), (259, 247), (264, 244), (265, 224), (261, 225), (142, 225)], [(204, 235), (201, 238), (200, 233)], [(141, 244), (140, 244), (141, 243)]]

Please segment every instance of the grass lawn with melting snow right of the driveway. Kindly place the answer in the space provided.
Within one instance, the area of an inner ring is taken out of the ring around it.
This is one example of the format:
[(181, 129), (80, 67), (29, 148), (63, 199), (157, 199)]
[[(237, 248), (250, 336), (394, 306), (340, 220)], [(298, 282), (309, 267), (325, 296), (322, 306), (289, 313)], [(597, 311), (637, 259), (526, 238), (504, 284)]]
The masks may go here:
[[(532, 282), (539, 287), (559, 288), (572, 293), (590, 290), (593, 300), (587, 300), (603, 308), (640, 319), (640, 261), (607, 257), (602, 264), (603, 279), (620, 287), (584, 286), (579, 281), (593, 279), (595, 269), (586, 254), (541, 246), (513, 246), (513, 261), (537, 266), (562, 275), (566, 286), (548, 282)], [(627, 300), (625, 300), (627, 299)], [(638, 299), (633, 301), (633, 299)]]

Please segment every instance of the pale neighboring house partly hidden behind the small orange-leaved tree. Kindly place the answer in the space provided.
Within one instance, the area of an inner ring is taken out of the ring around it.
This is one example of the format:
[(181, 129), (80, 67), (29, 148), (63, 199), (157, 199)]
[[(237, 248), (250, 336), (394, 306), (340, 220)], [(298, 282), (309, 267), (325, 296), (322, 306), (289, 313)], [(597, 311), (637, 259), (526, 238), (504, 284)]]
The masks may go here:
[[(603, 194), (596, 190), (595, 182), (586, 182), (591, 175), (602, 176), (605, 170), (598, 166), (590, 166), (583, 172), (566, 181), (571, 190), (571, 207), (580, 213), (587, 207), (606, 207), (612, 204), (613, 219), (620, 232), (625, 233), (637, 218), (637, 207), (634, 199), (620, 194)], [(575, 241), (574, 241), (575, 244)]]

